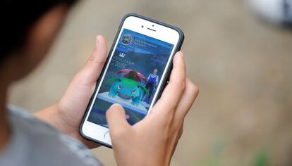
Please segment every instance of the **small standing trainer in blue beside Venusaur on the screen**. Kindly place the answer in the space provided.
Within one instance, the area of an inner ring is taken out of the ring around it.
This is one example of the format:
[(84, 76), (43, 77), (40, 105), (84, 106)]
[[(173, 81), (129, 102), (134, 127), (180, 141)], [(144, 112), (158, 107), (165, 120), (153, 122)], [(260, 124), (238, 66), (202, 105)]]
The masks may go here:
[(154, 68), (153, 72), (147, 77), (147, 84), (145, 88), (149, 91), (147, 103), (150, 103), (153, 91), (156, 90), (159, 83), (158, 68)]

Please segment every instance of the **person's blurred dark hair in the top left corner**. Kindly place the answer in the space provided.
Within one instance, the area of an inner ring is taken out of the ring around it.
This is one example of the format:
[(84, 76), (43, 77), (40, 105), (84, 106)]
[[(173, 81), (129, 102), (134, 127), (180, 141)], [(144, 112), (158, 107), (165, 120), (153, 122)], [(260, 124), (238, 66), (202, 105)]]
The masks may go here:
[(59, 4), (71, 6), (77, 0), (2, 0), (0, 7), (0, 63), (25, 42), (32, 25)]

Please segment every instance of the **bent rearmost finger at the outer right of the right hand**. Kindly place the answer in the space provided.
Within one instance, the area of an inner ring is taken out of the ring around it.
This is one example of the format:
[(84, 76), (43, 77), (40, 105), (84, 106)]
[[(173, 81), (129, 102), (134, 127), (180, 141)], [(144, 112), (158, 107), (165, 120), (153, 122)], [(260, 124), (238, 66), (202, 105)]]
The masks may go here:
[(195, 98), (199, 94), (199, 89), (190, 79), (185, 79), (185, 91), (183, 96), (181, 96), (181, 101), (179, 101), (178, 106), (176, 108), (176, 113), (174, 115), (174, 119), (177, 122), (181, 122), (185, 115), (188, 113), (190, 108), (193, 106)]

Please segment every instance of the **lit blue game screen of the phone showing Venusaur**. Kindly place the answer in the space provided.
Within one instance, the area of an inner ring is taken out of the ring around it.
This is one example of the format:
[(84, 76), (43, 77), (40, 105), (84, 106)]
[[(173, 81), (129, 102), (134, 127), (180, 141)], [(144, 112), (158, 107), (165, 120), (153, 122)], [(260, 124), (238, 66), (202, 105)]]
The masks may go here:
[(142, 120), (152, 103), (174, 45), (123, 29), (88, 121), (107, 126), (113, 103), (126, 110), (130, 125)]

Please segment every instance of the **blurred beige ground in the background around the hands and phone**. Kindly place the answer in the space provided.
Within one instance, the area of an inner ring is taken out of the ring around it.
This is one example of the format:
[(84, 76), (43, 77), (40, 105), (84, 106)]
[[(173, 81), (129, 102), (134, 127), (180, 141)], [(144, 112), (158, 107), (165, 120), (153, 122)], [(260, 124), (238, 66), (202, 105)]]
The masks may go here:
[[(49, 57), (11, 88), (10, 103), (33, 113), (58, 101), (96, 35), (111, 46), (133, 12), (181, 27), (188, 77), (200, 87), (171, 165), (292, 165), (292, 32), (239, 0), (81, 1)], [(115, 165), (111, 149), (92, 153)]]

